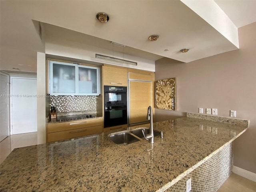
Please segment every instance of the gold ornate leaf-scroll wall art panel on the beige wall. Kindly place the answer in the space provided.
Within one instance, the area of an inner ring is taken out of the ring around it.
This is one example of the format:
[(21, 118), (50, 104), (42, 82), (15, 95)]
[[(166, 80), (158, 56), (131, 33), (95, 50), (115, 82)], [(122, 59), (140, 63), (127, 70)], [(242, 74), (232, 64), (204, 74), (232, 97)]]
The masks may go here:
[(176, 78), (156, 81), (156, 108), (176, 110)]

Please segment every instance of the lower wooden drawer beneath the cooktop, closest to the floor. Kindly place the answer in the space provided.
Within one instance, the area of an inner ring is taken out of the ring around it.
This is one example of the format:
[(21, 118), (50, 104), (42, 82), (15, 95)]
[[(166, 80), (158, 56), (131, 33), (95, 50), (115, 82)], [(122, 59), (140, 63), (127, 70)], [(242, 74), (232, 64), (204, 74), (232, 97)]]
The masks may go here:
[(48, 133), (48, 142), (70, 139), (102, 132), (102, 125)]

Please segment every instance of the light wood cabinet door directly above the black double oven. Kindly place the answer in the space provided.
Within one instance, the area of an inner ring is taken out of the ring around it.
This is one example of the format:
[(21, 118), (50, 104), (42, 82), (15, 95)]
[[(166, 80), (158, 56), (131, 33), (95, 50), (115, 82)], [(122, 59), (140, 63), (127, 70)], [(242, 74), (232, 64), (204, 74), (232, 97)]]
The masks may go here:
[(127, 69), (115, 66), (103, 66), (103, 84), (127, 86)]

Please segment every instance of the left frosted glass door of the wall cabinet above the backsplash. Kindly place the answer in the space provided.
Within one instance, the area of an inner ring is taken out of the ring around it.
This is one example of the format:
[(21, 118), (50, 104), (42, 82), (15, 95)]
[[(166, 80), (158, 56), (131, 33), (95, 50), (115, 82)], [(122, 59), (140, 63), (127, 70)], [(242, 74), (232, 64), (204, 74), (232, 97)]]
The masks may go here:
[(75, 94), (76, 93), (76, 66), (74, 64), (58, 64), (52, 62), (50, 66), (52, 77), (51, 94)]

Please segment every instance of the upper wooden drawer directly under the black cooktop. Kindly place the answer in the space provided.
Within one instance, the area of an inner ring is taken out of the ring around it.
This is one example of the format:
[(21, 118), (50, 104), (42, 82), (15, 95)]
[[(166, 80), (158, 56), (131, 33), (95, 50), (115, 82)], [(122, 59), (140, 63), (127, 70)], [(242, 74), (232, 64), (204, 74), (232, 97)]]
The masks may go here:
[(48, 133), (102, 125), (102, 118), (48, 124)]

